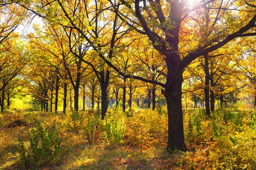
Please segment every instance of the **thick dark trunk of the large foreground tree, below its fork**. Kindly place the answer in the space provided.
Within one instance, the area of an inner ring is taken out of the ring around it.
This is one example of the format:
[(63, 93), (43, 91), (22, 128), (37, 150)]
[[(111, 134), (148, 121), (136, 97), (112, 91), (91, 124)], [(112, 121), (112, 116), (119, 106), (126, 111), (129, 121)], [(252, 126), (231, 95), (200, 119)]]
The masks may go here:
[[(183, 82), (182, 71), (176, 72), (169, 82), (165, 91), (162, 91), (166, 97), (168, 110), (168, 142), (167, 150), (169, 152), (177, 149), (184, 151), (186, 145), (183, 133), (183, 113), (181, 104), (181, 85)], [(167, 79), (168, 81), (168, 79)], [(167, 84), (167, 83), (166, 83)]]

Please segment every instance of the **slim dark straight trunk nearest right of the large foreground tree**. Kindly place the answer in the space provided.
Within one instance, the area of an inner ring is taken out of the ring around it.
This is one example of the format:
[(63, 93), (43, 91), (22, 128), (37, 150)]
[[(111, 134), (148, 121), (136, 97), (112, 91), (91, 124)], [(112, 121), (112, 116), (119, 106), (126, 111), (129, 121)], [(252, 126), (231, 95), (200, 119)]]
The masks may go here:
[(204, 98), (205, 98), (205, 111), (207, 116), (210, 114), (210, 101), (209, 101), (209, 55), (204, 56), (204, 70), (205, 70), (205, 87), (204, 87)]

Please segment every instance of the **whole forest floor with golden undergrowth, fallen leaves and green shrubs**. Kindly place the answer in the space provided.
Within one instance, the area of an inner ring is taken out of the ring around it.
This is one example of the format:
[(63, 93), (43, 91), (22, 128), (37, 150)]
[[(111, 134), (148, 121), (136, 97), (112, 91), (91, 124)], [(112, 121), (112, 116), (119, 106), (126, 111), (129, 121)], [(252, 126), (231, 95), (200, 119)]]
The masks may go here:
[(254, 112), (185, 112), (187, 151), (175, 153), (165, 149), (165, 112), (2, 113), (0, 170), (256, 169)]

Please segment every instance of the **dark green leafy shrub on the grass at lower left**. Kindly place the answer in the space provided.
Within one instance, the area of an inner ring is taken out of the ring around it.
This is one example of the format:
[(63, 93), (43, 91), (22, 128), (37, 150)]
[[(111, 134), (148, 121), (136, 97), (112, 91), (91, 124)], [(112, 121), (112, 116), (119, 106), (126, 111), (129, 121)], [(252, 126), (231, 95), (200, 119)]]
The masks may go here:
[(58, 129), (54, 124), (52, 127), (44, 128), (35, 120), (35, 125), (35, 128), (31, 128), (27, 148), (23, 140), (18, 139), (17, 150), (23, 167), (39, 167), (42, 164), (54, 163), (62, 150)]

